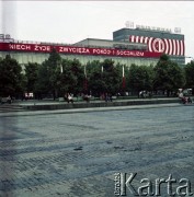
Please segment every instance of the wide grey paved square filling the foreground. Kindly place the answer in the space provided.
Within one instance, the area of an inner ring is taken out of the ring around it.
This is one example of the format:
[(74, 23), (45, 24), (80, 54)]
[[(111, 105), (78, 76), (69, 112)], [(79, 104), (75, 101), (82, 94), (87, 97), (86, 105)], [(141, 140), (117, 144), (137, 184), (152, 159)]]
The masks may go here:
[(0, 116), (0, 197), (166, 197), (168, 178), (194, 193), (194, 105)]

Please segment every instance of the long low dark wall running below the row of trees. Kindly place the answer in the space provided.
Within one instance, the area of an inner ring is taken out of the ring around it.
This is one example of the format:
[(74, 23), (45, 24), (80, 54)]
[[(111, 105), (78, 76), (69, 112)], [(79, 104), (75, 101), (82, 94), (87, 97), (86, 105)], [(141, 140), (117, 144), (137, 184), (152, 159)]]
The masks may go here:
[(66, 108), (87, 108), (87, 107), (109, 107), (109, 106), (128, 106), (128, 105), (146, 105), (146, 104), (166, 104), (179, 103), (179, 99), (142, 99), (132, 101), (113, 101), (113, 102), (90, 102), (90, 103), (61, 103), (61, 104), (35, 104), (25, 105), (25, 109), (30, 111), (50, 111), (50, 109), (66, 109)]

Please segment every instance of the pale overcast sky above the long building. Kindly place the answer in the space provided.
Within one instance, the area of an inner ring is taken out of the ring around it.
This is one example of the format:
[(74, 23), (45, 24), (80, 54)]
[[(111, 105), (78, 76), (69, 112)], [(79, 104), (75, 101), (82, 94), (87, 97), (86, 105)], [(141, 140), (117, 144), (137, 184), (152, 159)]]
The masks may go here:
[(194, 57), (194, 1), (1, 0), (0, 14), (0, 33), (37, 42), (113, 39), (113, 32), (126, 27), (126, 21), (172, 31), (181, 27), (185, 56)]

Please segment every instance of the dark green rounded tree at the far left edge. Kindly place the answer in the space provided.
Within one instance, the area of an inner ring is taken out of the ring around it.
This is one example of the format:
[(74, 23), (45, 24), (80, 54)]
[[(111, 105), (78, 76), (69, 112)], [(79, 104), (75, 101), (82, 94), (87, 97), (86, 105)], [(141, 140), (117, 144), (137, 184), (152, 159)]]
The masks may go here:
[(23, 92), (22, 67), (19, 62), (7, 55), (0, 60), (0, 94), (1, 96), (18, 96)]

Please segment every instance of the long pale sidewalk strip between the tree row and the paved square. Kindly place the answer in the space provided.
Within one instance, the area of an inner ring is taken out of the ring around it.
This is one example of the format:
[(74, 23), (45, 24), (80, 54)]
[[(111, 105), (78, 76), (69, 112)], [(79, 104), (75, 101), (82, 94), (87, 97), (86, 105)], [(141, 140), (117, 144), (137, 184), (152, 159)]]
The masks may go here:
[[(191, 104), (190, 104), (191, 105)], [(193, 104), (192, 104), (193, 105)], [(10, 111), (4, 112), (3, 105), (0, 111), (0, 117), (7, 116), (33, 116), (44, 114), (69, 114), (69, 113), (89, 113), (103, 111), (124, 111), (138, 108), (174, 107), (183, 106), (178, 97), (159, 99), (133, 99), (105, 101), (85, 101), (75, 102), (73, 104), (59, 101), (18, 101), (10, 105)], [(18, 109), (14, 109), (18, 107)]]

